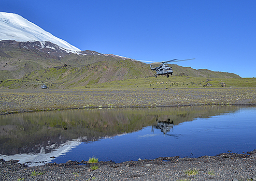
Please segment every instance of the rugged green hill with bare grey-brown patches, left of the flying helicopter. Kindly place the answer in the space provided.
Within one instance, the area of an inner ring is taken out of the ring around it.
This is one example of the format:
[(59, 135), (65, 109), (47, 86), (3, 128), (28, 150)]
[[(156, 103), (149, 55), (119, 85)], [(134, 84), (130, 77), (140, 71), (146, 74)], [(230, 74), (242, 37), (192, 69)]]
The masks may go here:
[[(153, 76), (146, 64), (127, 60), (102, 61), (92, 63), (80, 68), (73, 66), (58, 66), (44, 68), (26, 73), (22, 79), (3, 79), (0, 87), (9, 88), (34, 88), (32, 84), (45, 83), (52, 88), (68, 88), (74, 86), (87, 86), (108, 81), (124, 79), (144, 78)], [(27, 80), (27, 84), (23, 84)], [(20, 85), (11, 86), (12, 82), (19, 82)]]

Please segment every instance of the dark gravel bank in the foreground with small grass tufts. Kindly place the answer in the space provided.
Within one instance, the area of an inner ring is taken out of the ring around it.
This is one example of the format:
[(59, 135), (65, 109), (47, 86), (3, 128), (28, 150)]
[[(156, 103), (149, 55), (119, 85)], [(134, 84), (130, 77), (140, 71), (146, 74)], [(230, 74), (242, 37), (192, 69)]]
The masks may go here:
[[(98, 169), (92, 171), (93, 165)], [(37, 167), (1, 159), (0, 170), (1, 180), (256, 180), (256, 150), (200, 158), (166, 157), (122, 163), (68, 161)]]

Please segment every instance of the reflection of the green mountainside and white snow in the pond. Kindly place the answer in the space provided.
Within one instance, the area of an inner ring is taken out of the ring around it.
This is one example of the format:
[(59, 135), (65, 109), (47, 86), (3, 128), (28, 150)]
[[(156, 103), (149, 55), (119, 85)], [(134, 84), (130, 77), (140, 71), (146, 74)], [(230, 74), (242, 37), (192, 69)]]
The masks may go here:
[(0, 158), (44, 164), (70, 153), (70, 150), (79, 147), (81, 143), (94, 143), (117, 135), (134, 133), (149, 126), (153, 133), (161, 130), (162, 134), (177, 139), (180, 135), (171, 133), (175, 125), (198, 118), (234, 113), (241, 108), (243, 107), (200, 106), (77, 109), (2, 115)]

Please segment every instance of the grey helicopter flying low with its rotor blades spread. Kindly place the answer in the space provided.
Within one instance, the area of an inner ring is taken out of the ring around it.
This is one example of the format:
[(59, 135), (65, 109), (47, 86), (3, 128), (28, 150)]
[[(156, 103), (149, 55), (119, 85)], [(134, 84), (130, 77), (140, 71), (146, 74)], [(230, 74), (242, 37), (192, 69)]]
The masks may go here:
[[(192, 58), (195, 59), (195, 58)], [(183, 59), (181, 61), (189, 61), (191, 59)], [(165, 63), (167, 62), (180, 62), (177, 61), (177, 59), (172, 59), (171, 61), (166, 61), (166, 62), (161, 62), (162, 65), (160, 65), (159, 67), (155, 67), (152, 68), (152, 66), (150, 65), (151, 70), (155, 70), (157, 73), (155, 74), (155, 77), (157, 78), (158, 75), (166, 75), (166, 77), (169, 77), (169, 74), (172, 76), (173, 75), (173, 70), (172, 67), (169, 67), (168, 65), (166, 65)]]

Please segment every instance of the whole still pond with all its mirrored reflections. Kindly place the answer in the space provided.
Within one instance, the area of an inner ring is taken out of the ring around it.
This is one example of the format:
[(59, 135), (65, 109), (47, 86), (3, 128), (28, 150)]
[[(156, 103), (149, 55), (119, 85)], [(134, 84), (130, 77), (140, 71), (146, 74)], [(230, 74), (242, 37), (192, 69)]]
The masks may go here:
[(123, 162), (256, 149), (256, 107), (78, 109), (0, 116), (0, 158)]

